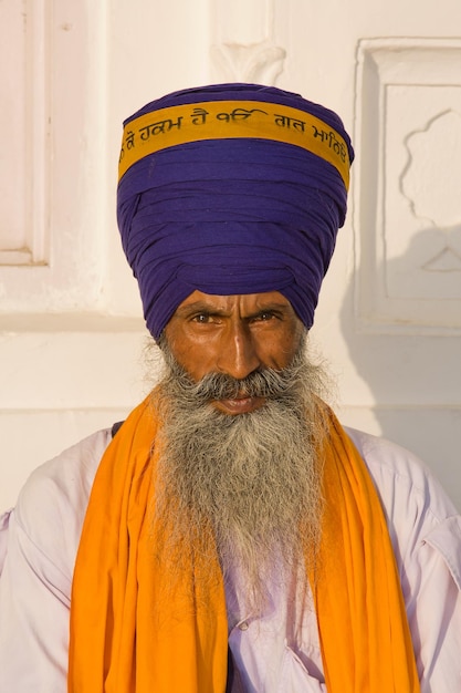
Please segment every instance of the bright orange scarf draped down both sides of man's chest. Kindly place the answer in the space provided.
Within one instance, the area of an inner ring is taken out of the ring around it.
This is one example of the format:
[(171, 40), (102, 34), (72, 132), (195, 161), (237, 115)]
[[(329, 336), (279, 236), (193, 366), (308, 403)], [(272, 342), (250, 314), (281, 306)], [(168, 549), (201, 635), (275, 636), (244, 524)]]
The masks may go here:
[[(325, 515), (312, 582), (328, 693), (418, 693), (396, 561), (377, 493), (325, 406)], [(149, 519), (158, 422), (148, 399), (108, 446), (93, 485), (72, 591), (69, 693), (223, 693), (228, 624), (218, 559), (174, 603)], [(205, 583), (208, 587), (205, 587)], [(214, 586), (214, 587), (210, 587)], [(155, 614), (155, 617), (154, 617)]]

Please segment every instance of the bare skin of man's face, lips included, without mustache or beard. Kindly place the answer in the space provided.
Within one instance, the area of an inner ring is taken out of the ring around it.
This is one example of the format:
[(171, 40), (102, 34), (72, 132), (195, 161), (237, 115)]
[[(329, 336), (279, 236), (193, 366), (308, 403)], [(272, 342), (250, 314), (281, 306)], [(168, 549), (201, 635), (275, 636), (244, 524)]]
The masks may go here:
[[(195, 381), (210, 373), (242, 380), (253, 371), (286, 368), (297, 352), (304, 327), (279, 291), (212, 296), (193, 291), (165, 329), (172, 355)], [(212, 403), (224, 414), (252, 412), (263, 397)]]

